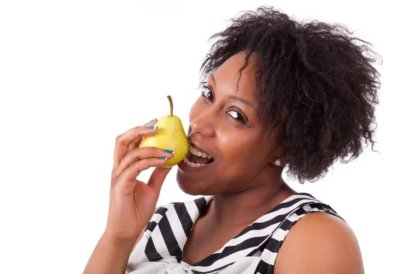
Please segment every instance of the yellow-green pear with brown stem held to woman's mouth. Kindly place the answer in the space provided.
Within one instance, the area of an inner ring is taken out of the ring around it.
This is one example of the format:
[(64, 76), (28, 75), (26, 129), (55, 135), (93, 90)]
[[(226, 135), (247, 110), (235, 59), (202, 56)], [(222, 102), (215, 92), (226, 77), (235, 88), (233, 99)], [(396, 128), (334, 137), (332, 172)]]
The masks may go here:
[(155, 125), (158, 132), (153, 136), (142, 138), (140, 147), (158, 147), (174, 151), (174, 157), (167, 160), (162, 168), (169, 168), (182, 162), (188, 153), (188, 138), (184, 132), (182, 121), (173, 114), (173, 100), (170, 103), (170, 115), (163, 116)]

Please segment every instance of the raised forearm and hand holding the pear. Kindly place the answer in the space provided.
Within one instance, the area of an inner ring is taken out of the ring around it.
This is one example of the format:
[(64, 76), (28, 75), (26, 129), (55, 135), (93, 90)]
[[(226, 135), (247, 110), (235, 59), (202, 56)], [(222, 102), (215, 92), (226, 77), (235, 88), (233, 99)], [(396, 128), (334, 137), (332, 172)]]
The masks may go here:
[[(123, 274), (136, 241), (155, 212), (160, 190), (170, 169), (160, 166), (173, 158), (173, 151), (140, 147), (144, 136), (158, 132), (156, 123), (129, 129), (116, 138), (110, 182), (110, 203), (105, 231), (97, 243), (84, 274)], [(155, 167), (147, 182), (137, 179), (142, 171)]]

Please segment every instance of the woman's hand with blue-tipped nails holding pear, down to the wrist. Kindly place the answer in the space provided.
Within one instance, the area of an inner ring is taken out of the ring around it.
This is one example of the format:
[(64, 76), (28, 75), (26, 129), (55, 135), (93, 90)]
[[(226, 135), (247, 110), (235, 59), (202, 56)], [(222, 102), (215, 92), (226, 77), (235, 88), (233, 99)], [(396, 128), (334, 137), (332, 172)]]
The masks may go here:
[[(121, 240), (136, 240), (141, 230), (150, 221), (160, 195), (160, 189), (171, 169), (162, 169), (172, 153), (156, 148), (140, 148), (142, 136), (153, 136), (158, 129), (149, 129), (156, 120), (146, 125), (134, 127), (116, 138), (114, 165), (110, 188), (110, 206), (104, 234)], [(149, 182), (141, 182), (136, 177), (149, 169), (157, 168)]]

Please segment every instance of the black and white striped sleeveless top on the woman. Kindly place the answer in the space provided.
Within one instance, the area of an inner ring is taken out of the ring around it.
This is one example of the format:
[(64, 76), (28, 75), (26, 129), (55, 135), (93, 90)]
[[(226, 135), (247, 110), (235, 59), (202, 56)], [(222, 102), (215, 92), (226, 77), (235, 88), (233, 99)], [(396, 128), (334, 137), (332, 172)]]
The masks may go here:
[(184, 262), (183, 249), (197, 218), (212, 197), (159, 208), (129, 257), (126, 274), (273, 273), (277, 253), (292, 225), (312, 212), (338, 214), (308, 193), (292, 195), (195, 264)]

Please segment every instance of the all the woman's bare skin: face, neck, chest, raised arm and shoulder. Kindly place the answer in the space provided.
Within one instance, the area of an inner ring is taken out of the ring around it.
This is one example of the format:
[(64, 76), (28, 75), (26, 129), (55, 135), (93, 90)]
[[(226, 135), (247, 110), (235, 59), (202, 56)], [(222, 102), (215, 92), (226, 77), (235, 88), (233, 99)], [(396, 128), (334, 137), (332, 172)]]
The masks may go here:
[[(258, 60), (251, 58), (238, 81), (244, 62), (245, 53), (240, 52), (214, 71), (190, 110), (188, 138), (212, 155), (214, 162), (191, 172), (180, 163), (177, 183), (190, 195), (213, 195), (214, 199), (197, 219), (184, 246), (184, 261), (189, 264), (221, 249), (242, 229), (295, 193), (282, 184), (287, 158), (276, 142), (282, 127), (266, 138), (266, 118), (258, 119), (256, 113), (254, 75)], [(242, 123), (241, 117), (247, 122)], [(158, 168), (165, 162), (158, 157), (173, 157), (161, 149), (138, 148), (142, 136), (155, 132), (136, 127), (117, 138), (108, 225), (84, 273), (124, 273), (128, 256), (145, 231), (169, 173), (169, 169)], [(282, 166), (275, 166), (277, 158)], [(151, 166), (157, 168), (147, 184), (135, 179)], [(317, 212), (304, 216), (290, 229), (274, 273), (360, 274), (364, 269), (358, 241), (347, 223)]]

